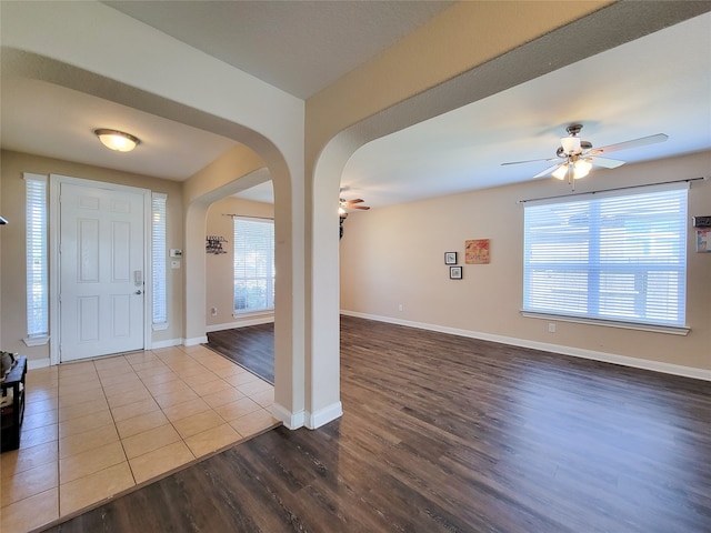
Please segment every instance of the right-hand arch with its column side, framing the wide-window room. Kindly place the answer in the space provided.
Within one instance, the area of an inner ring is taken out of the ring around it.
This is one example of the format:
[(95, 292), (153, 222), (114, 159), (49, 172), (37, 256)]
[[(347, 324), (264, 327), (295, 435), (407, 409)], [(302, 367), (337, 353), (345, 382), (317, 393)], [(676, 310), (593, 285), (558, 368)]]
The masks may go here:
[[(662, 2), (663, 3), (663, 2)], [(410, 36), (307, 104), (307, 204), (310, 239), (307, 279), (307, 425), (316, 428), (341, 412), (339, 390), (339, 253), (336, 232), (339, 182), (350, 155), (360, 147), (524, 81), (602, 52), (697, 14), (662, 3), (613, 3), (591, 7), (558, 4), (569, 10), (541, 9), (535, 3), (457, 4), (428, 28)], [(489, 10), (488, 8), (491, 8)], [(599, 9), (601, 8), (601, 9)], [(481, 48), (451, 52), (447, 69), (438, 62), (452, 42), (469, 42), (472, 29), (500, 24), (508, 31), (491, 36)], [(453, 20), (457, 19), (457, 22)], [(623, 29), (623, 31), (621, 30)], [(458, 33), (458, 32), (461, 32)], [(464, 36), (464, 37), (462, 37)], [(418, 39), (421, 38), (419, 41)], [(428, 54), (413, 54), (428, 50)], [(433, 50), (441, 53), (441, 57)], [(418, 63), (413, 64), (413, 57)], [(408, 67), (411, 69), (407, 70)], [(460, 68), (459, 71), (452, 70)], [(404, 80), (392, 77), (399, 72)], [(448, 77), (449, 74), (449, 77)], [(375, 92), (378, 88), (379, 91)], [(492, 124), (495, 127), (495, 124)]]

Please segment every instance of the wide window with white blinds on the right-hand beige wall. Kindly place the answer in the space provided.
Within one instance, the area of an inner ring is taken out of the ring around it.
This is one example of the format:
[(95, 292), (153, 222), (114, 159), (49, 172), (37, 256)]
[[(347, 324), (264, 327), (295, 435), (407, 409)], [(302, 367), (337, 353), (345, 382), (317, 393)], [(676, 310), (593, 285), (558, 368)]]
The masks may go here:
[(688, 184), (524, 207), (523, 311), (684, 326)]

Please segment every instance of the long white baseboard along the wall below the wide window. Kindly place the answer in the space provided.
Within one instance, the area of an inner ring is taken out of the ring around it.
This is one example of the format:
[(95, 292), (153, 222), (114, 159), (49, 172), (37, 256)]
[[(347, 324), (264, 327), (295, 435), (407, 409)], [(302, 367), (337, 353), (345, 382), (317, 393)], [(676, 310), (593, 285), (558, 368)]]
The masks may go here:
[(663, 363), (661, 361), (650, 361), (647, 359), (630, 358), (628, 355), (618, 355), (614, 353), (597, 352), (593, 350), (582, 350), (578, 348), (563, 346), (560, 344), (549, 344), (547, 342), (529, 341), (525, 339), (517, 339), (512, 336), (492, 335), (470, 330), (459, 330), (444, 325), (425, 324), (422, 322), (411, 322), (407, 320), (391, 319), (390, 316), (377, 316), (367, 313), (358, 313), (354, 311), (341, 310), (341, 314), (348, 316), (358, 316), (361, 319), (377, 320), (379, 322), (388, 322), (391, 324), (407, 325), (409, 328), (418, 328), (420, 330), (438, 331), (440, 333), (449, 333), (452, 335), (468, 336), (471, 339), (480, 339), (482, 341), (500, 342), (512, 346), (530, 348), (541, 350), (543, 352), (560, 353), (562, 355), (572, 355), (574, 358), (590, 359), (601, 361), (603, 363), (621, 364), (634, 369), (652, 370), (664, 374), (681, 375), (695, 380), (711, 381), (711, 370), (694, 369), (693, 366), (682, 366), (681, 364)]

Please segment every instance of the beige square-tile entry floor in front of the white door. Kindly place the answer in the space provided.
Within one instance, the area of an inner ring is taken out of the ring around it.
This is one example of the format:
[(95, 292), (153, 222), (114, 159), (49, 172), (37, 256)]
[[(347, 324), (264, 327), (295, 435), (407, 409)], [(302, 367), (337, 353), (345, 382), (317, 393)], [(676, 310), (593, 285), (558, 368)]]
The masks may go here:
[(273, 386), (204, 346), (31, 370), (0, 455), (0, 531), (27, 532), (273, 426)]

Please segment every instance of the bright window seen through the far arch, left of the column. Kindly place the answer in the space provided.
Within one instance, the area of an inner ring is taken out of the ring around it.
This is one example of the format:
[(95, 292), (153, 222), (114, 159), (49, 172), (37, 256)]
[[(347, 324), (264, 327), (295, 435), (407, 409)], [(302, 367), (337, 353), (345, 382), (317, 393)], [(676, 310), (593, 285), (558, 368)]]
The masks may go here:
[(234, 314), (274, 309), (274, 222), (234, 218)]

